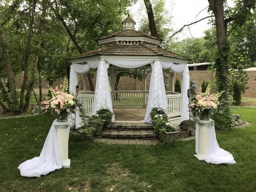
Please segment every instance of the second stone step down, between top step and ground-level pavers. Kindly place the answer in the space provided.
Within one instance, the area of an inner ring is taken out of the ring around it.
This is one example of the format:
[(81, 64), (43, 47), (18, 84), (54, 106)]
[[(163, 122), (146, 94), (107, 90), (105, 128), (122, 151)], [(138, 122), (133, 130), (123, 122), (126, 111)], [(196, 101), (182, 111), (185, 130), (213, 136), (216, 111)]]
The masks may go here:
[(153, 130), (104, 130), (103, 138), (151, 139), (157, 138)]

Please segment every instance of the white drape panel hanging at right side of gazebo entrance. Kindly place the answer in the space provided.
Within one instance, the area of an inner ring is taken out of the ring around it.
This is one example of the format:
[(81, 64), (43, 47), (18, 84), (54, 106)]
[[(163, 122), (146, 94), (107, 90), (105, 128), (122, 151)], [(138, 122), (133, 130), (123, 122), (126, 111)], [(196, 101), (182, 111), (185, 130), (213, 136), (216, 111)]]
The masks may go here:
[(165, 83), (163, 82), (163, 70), (161, 63), (159, 61), (155, 61), (151, 64), (151, 67), (152, 74), (150, 78), (148, 104), (144, 122), (151, 121), (150, 112), (154, 107), (167, 109)]

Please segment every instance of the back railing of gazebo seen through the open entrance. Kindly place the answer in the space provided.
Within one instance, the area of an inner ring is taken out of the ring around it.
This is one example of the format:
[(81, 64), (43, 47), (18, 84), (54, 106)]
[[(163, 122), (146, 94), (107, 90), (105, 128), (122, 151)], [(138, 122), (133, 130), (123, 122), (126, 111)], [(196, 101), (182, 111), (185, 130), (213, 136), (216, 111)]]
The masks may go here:
[(147, 105), (148, 91), (145, 92), (145, 101), (143, 101), (143, 91), (115, 91), (114, 107), (143, 107)]

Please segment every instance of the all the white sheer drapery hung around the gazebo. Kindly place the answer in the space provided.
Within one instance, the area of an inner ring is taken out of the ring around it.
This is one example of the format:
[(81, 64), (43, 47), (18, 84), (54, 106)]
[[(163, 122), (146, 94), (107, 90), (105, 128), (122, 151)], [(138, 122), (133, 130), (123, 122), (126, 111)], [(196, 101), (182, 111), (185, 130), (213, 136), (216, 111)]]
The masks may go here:
[[(153, 60), (106, 60), (107, 63), (115, 65), (121, 68), (138, 68), (149, 63), (153, 63)], [(95, 87), (95, 97), (93, 104), (93, 113), (96, 112), (101, 107), (108, 107), (111, 111), (112, 102), (111, 102), (111, 94), (109, 88), (109, 82), (107, 77), (107, 68), (108, 65), (105, 61), (93, 61), (87, 62), (84, 64), (73, 64), (70, 69), (70, 91), (75, 93), (75, 86), (77, 85), (77, 74), (78, 73), (86, 73), (90, 70), (90, 68), (97, 68), (97, 79), (96, 79), (96, 87)], [(154, 69), (153, 69), (154, 68)], [(181, 121), (188, 120), (188, 97), (187, 90), (189, 89), (189, 72), (187, 64), (173, 64), (170, 62), (162, 62), (155, 61), (152, 65), (152, 77), (150, 81), (150, 89), (149, 89), (149, 98), (148, 98), (148, 106), (145, 115), (145, 122), (149, 122), (150, 111), (153, 107), (165, 107), (167, 108), (166, 103), (166, 93), (165, 93), (165, 85), (163, 83), (163, 69), (170, 69), (173, 72), (182, 72), (182, 103), (181, 103)], [(161, 70), (160, 70), (161, 69)], [(156, 91), (157, 90), (157, 91)]]

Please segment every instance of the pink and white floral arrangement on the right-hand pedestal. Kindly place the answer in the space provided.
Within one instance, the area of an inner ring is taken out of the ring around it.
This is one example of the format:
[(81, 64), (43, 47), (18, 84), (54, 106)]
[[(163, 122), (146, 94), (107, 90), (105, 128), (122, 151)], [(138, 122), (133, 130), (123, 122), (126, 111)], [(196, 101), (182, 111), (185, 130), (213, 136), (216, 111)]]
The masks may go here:
[(217, 94), (210, 94), (211, 87), (208, 86), (205, 92), (201, 92), (192, 97), (189, 108), (192, 110), (194, 117), (199, 116), (200, 120), (209, 120), (209, 116), (219, 107), (219, 97), (222, 92)]

